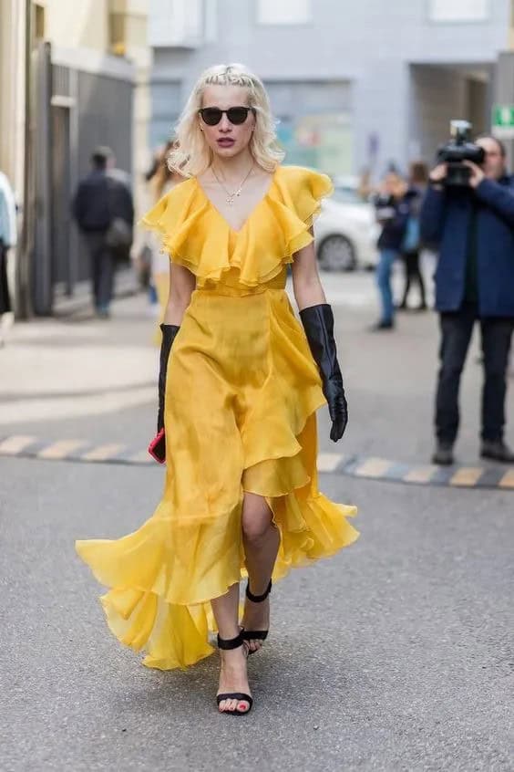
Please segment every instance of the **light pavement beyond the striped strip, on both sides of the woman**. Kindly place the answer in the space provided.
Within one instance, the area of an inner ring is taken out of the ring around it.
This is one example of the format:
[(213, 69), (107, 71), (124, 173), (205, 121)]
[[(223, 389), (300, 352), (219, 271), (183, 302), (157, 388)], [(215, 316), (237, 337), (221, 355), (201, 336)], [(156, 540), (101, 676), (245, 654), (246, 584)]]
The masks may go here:
[[(324, 286), (334, 304), (350, 422), (344, 440), (334, 445), (327, 412), (320, 411), (321, 451), (427, 464), (433, 446), (437, 316), (403, 314), (395, 332), (372, 334), (367, 327), (376, 314), (373, 277), (328, 274)], [(85, 436), (146, 447), (155, 423), (155, 325), (144, 295), (117, 300), (109, 321), (79, 314), (16, 325), (0, 349), (0, 433)], [(470, 466), (479, 464), (478, 356), (476, 335), (462, 381), (457, 444), (457, 460)], [(510, 384), (506, 439), (514, 444)]]

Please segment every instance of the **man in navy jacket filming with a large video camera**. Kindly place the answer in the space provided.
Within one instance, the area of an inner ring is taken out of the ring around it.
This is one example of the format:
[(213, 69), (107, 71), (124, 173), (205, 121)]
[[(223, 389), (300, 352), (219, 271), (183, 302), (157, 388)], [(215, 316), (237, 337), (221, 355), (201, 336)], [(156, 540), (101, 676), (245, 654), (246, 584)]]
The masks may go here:
[(512, 463), (504, 442), (506, 371), (514, 329), (514, 178), (506, 172), (501, 142), (484, 137), (482, 166), (467, 162), (468, 187), (445, 186), (445, 164), (430, 174), (421, 209), (421, 237), (437, 245), (436, 308), (441, 325), (435, 464), (453, 463), (458, 429), (458, 387), (478, 320), (485, 381), (481, 455)]

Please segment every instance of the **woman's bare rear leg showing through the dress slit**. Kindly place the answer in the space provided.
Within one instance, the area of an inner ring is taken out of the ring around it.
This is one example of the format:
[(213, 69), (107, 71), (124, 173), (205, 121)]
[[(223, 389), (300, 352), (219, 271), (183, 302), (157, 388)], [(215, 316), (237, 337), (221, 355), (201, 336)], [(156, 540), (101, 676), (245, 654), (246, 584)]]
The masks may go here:
[[(253, 595), (262, 595), (272, 578), (280, 545), (280, 534), (272, 524), (272, 511), (266, 499), (256, 494), (244, 495), (242, 504), (242, 537), (246, 569)], [(247, 630), (267, 630), (270, 624), (270, 600), (252, 603), (245, 600), (242, 626)], [(262, 641), (249, 641), (251, 652), (258, 651)]]

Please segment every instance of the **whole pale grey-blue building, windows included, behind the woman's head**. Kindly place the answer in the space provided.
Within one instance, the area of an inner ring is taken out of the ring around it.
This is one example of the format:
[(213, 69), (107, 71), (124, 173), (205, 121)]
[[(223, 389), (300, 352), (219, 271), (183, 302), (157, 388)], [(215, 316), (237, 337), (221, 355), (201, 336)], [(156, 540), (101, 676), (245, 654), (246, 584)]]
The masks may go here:
[(452, 118), (488, 128), (510, 0), (150, 0), (150, 141), (203, 68), (244, 62), (269, 89), (289, 162), (380, 174), (431, 162)]

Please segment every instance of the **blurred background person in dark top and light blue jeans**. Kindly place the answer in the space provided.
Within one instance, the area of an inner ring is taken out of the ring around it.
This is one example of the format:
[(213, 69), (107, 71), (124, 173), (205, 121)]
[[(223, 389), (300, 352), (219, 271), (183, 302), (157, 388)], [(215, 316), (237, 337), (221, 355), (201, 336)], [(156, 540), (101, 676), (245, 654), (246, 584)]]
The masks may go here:
[(409, 203), (406, 200), (407, 186), (396, 172), (387, 172), (375, 196), (376, 220), (382, 226), (378, 237), (378, 266), (376, 283), (381, 302), (381, 315), (373, 331), (390, 330), (395, 327), (395, 305), (391, 289), (391, 271), (406, 232)]

